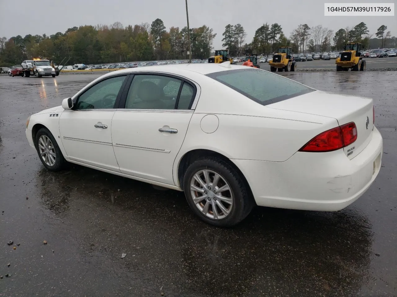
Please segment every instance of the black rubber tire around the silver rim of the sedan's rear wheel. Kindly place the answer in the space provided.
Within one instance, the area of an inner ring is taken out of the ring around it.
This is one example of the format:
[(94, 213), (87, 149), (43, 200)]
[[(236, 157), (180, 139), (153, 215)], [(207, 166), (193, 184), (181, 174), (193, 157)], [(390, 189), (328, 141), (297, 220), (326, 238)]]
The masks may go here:
[[(207, 217), (200, 211), (200, 209), (197, 208), (195, 202), (193, 202), (190, 183), (193, 176), (198, 171), (204, 169), (218, 173), (230, 187), (230, 192), (233, 197), (233, 206), (230, 213), (223, 219), (212, 219)], [(187, 203), (193, 212), (204, 222), (216, 227), (231, 227), (238, 224), (245, 219), (247, 215), (249, 215), (255, 205), (251, 192), (248, 189), (248, 185), (241, 176), (241, 173), (230, 166), (227, 162), (217, 157), (202, 157), (193, 162), (185, 172), (183, 178), (183, 189)]]

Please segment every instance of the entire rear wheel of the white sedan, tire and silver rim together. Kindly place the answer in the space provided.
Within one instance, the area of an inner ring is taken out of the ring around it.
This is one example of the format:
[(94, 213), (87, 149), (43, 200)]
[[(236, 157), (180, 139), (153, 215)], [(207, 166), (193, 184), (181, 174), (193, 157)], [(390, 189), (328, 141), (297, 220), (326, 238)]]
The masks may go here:
[(216, 157), (203, 157), (193, 162), (186, 170), (183, 189), (193, 212), (217, 227), (236, 225), (254, 206), (241, 174)]

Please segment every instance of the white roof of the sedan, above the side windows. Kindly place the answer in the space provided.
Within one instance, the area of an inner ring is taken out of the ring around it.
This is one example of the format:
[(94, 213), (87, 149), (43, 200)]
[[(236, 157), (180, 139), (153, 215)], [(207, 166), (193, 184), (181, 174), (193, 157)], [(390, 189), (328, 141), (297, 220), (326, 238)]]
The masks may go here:
[(187, 64), (153, 65), (153, 66), (146, 66), (145, 68), (127, 68), (122, 70), (116, 70), (114, 72), (105, 74), (105, 76), (112, 75), (113, 73), (129, 73), (129, 72), (166, 72), (172, 74), (183, 74), (189, 71), (206, 75), (209, 73), (226, 71), (226, 70), (247, 69), (247, 66), (242, 66), (242, 65), (228, 65), (228, 67), (224, 67), (224, 65), (221, 66), (221, 64), (187, 63)]

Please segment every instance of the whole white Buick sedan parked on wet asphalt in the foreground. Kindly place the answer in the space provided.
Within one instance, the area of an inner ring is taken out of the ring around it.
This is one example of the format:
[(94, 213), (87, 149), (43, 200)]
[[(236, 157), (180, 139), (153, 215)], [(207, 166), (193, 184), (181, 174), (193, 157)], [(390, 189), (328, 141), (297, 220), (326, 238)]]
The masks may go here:
[(104, 74), (30, 116), (26, 137), (51, 171), (71, 162), (184, 191), (198, 217), (224, 227), (255, 204), (337, 211), (353, 203), (381, 167), (374, 119), (369, 98), (198, 63)]

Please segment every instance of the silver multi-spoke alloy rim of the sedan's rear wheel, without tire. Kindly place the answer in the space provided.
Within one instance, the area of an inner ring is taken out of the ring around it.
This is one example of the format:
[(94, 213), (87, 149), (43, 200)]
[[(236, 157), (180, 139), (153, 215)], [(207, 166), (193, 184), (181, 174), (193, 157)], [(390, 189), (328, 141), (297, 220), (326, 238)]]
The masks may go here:
[(210, 219), (224, 219), (233, 207), (233, 194), (228, 183), (221, 175), (208, 169), (193, 175), (190, 193), (198, 210)]

